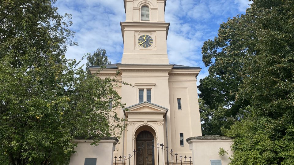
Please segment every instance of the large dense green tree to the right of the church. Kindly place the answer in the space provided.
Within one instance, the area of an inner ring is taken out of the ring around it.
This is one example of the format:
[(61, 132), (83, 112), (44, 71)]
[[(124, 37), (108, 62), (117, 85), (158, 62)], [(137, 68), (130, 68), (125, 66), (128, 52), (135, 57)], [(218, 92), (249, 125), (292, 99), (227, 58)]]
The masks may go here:
[(202, 99), (211, 111), (225, 103), (224, 111), (236, 112), (223, 129), (234, 138), (233, 165), (294, 164), (293, 38), (292, 0), (253, 0), (202, 47), (209, 66)]

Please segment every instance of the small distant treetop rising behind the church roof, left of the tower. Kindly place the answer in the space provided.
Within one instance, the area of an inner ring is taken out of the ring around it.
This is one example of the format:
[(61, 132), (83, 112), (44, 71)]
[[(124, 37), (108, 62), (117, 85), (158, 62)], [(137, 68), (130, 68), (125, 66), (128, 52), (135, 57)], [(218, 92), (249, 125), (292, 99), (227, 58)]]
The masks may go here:
[(87, 68), (89, 66), (103, 66), (111, 64), (111, 62), (108, 61), (105, 49), (97, 49), (93, 54), (89, 53), (87, 56)]

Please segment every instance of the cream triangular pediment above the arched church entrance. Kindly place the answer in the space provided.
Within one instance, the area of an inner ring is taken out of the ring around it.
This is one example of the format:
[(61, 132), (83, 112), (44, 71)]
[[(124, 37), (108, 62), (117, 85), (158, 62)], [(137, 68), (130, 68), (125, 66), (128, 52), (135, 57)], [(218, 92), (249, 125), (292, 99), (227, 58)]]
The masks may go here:
[(167, 111), (168, 111), (167, 108), (164, 108), (160, 105), (156, 105), (156, 104), (153, 104), (153, 103), (150, 103), (147, 101), (129, 106), (124, 109), (124, 112), (126, 114), (128, 114), (128, 113), (162, 113), (162, 114), (165, 114)]

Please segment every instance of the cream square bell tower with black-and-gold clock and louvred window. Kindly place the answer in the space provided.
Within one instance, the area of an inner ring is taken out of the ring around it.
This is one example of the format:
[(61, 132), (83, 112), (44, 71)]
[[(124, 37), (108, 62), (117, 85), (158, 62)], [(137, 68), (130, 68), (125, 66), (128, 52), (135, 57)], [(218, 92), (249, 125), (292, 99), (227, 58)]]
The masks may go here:
[(165, 4), (166, 0), (124, 0), (122, 64), (169, 64)]

